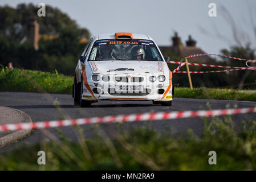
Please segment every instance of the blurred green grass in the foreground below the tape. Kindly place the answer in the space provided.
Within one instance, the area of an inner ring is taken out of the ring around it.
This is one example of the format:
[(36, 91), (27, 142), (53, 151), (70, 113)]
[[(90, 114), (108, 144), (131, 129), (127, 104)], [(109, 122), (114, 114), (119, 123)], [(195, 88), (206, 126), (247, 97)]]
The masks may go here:
[[(92, 127), (99, 129), (97, 125)], [(164, 135), (145, 127), (131, 133), (117, 127), (119, 134), (112, 139), (101, 130), (94, 139), (80, 143), (70, 142), (62, 135), (60, 141), (0, 154), (0, 170), (256, 170), (255, 129), (256, 121), (237, 125), (231, 117), (225, 117), (205, 119), (200, 136), (191, 129), (184, 137), (173, 135), (171, 130)], [(46, 152), (45, 166), (37, 164), (40, 150)], [(209, 151), (216, 151), (216, 165), (209, 165)]]

